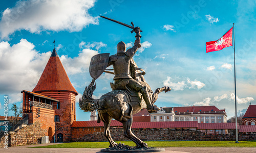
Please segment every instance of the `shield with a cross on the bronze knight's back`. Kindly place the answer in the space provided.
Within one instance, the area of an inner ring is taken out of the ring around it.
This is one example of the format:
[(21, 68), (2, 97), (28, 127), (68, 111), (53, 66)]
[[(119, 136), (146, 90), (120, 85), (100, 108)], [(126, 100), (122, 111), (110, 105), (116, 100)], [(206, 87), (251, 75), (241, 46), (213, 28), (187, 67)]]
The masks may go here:
[(100, 77), (100, 75), (106, 69), (106, 66), (108, 66), (109, 57), (109, 53), (97, 54), (92, 57), (89, 67), (90, 75), (92, 78), (96, 80)]

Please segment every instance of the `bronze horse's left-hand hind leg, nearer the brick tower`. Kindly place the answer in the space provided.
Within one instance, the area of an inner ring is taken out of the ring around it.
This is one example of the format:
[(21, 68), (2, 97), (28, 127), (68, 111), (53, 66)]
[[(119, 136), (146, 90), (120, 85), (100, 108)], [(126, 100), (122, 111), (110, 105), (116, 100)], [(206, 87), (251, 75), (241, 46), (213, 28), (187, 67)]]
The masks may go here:
[(112, 139), (111, 134), (110, 134), (110, 122), (111, 122), (112, 118), (107, 113), (102, 115), (102, 117), (103, 117), (102, 121), (104, 123), (104, 136), (110, 142), (110, 146), (109, 147), (114, 147), (114, 146), (117, 145), (117, 143), (114, 142), (114, 140)]

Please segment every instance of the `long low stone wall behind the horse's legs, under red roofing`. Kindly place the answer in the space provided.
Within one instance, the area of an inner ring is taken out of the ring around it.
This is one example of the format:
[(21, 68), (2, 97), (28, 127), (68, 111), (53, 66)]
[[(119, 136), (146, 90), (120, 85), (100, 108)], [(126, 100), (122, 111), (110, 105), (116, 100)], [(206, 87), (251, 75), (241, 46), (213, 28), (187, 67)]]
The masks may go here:
[[(107, 141), (103, 135), (103, 127), (73, 127), (73, 142), (98, 142)], [(142, 141), (222, 141), (236, 140), (236, 135), (205, 135), (194, 130), (170, 130), (170, 129), (132, 129), (132, 132)], [(114, 141), (129, 140), (123, 136), (122, 128), (111, 128), (111, 136)], [(240, 133), (239, 140), (256, 140), (256, 135)]]

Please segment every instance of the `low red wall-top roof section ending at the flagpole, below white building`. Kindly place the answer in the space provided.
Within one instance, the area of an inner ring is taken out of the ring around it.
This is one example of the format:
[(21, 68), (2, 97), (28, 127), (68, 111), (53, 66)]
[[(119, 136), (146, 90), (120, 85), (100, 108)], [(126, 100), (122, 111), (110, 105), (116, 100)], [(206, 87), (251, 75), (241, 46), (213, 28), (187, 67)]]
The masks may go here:
[[(199, 130), (236, 129), (236, 123), (198, 123)], [(239, 129), (239, 125), (238, 125)]]

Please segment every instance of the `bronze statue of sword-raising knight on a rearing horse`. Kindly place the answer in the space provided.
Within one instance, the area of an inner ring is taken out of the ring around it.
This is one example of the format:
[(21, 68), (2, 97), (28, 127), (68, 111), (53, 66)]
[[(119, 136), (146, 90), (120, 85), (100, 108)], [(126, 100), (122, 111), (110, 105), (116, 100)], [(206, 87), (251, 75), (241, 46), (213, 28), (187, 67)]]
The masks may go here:
[[(124, 25), (124, 23), (115, 22)], [(125, 26), (129, 27), (130, 25), (125, 24)], [(110, 135), (110, 122), (113, 118), (123, 124), (124, 136), (134, 141), (136, 147), (147, 147), (147, 144), (137, 138), (131, 131), (133, 114), (138, 113), (143, 108), (143, 101), (146, 103), (148, 112), (157, 111), (159, 108), (154, 103), (158, 98), (158, 94), (162, 91), (170, 91), (169, 87), (162, 87), (156, 89), (153, 93), (150, 86), (145, 82), (143, 77), (145, 71), (138, 68), (133, 60), (133, 56), (138, 48), (141, 47), (140, 32), (142, 31), (139, 27), (134, 28), (134, 26), (130, 26), (129, 28), (132, 28), (136, 33), (134, 46), (125, 52), (125, 43), (121, 41), (117, 44), (117, 54), (112, 56), (109, 56), (109, 54), (98, 54), (92, 57), (90, 75), (93, 80), (84, 89), (82, 98), (79, 99), (81, 110), (85, 112), (98, 111), (97, 122), (99, 123), (101, 120), (104, 123), (104, 136), (110, 142), (110, 147), (117, 145)], [(114, 73), (106, 70), (106, 67), (110, 65), (113, 65)], [(103, 72), (115, 75), (114, 83), (110, 83), (112, 91), (102, 95), (99, 99), (94, 99), (92, 95), (96, 89), (95, 80)]]

